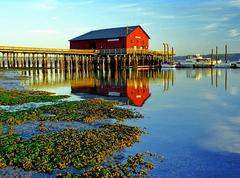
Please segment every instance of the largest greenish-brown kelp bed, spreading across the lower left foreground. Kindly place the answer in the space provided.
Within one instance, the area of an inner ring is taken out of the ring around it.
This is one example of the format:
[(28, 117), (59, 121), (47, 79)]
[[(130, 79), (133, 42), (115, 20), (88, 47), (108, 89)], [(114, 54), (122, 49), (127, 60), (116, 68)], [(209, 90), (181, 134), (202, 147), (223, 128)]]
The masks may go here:
[(97, 169), (94, 166), (102, 163), (115, 150), (138, 142), (141, 134), (137, 127), (107, 124), (87, 131), (65, 129), (31, 140), (17, 135), (3, 135), (0, 136), (0, 168), (17, 166), (24, 170), (51, 172), (71, 166), (78, 169), (93, 167), (94, 170)]

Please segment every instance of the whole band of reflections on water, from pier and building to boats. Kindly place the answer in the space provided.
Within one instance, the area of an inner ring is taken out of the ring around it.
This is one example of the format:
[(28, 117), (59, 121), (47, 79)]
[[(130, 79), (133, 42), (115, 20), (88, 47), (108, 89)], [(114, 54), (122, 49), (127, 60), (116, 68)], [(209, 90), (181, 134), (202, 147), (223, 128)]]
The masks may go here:
[[(181, 71), (181, 70), (180, 70)], [(228, 73), (231, 69), (184, 69), (187, 79), (197, 81), (207, 79), (211, 86), (224, 85), (228, 90)], [(176, 70), (29, 70), (22, 75), (30, 76), (23, 81), (29, 88), (63, 90), (67, 87), (70, 93), (81, 98), (107, 97), (125, 104), (143, 106), (151, 96), (149, 83), (162, 84), (163, 92), (167, 92), (176, 82)], [(224, 80), (222, 81), (222, 78)]]

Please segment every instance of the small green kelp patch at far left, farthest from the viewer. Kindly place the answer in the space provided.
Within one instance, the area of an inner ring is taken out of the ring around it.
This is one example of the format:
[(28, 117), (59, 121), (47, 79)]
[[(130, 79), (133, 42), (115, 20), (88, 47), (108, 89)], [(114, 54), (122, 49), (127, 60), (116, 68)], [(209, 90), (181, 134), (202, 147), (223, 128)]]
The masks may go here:
[(16, 105), (29, 102), (55, 102), (68, 98), (67, 95), (53, 95), (45, 91), (18, 91), (0, 88), (0, 105)]

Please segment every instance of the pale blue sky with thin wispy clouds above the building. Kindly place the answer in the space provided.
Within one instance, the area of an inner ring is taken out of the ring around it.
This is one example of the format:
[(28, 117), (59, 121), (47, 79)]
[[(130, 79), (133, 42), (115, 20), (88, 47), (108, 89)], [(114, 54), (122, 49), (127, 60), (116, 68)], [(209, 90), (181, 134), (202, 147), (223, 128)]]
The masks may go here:
[(240, 52), (240, 0), (0, 0), (0, 45), (68, 48), (95, 29), (141, 25), (150, 48)]

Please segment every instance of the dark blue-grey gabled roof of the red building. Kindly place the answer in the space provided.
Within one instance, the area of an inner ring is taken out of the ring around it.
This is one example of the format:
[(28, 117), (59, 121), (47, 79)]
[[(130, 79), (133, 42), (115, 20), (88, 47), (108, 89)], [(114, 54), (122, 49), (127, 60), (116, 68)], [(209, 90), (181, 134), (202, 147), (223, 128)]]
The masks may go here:
[[(137, 27), (140, 27), (142, 29), (142, 27), (138, 25), (138, 26), (128, 26), (128, 27), (118, 27), (118, 28), (108, 28), (108, 29), (94, 30), (94, 31), (90, 31), (88, 33), (85, 33), (81, 36), (78, 36), (76, 38), (73, 38), (70, 41), (126, 37), (128, 34), (130, 34)], [(144, 33), (146, 33), (146, 32), (144, 31)], [(146, 33), (146, 35), (148, 36), (147, 33)], [(150, 39), (150, 37), (149, 37), (149, 39)]]

